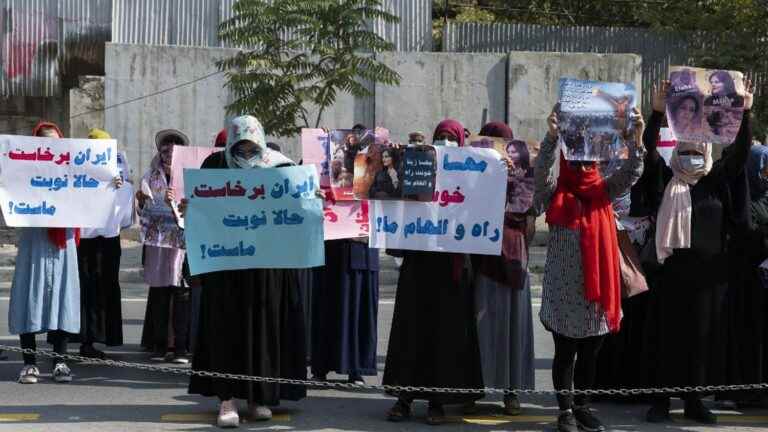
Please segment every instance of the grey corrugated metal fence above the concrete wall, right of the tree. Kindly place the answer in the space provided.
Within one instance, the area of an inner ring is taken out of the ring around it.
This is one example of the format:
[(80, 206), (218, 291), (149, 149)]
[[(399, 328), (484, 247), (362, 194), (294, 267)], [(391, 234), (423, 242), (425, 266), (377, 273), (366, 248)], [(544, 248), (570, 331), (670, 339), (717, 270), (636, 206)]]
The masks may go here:
[(669, 66), (686, 64), (686, 45), (671, 35), (622, 27), (561, 27), (531, 24), (449, 23), (448, 52), (547, 51), (639, 54), (643, 58), (643, 106), (651, 87), (667, 77)]

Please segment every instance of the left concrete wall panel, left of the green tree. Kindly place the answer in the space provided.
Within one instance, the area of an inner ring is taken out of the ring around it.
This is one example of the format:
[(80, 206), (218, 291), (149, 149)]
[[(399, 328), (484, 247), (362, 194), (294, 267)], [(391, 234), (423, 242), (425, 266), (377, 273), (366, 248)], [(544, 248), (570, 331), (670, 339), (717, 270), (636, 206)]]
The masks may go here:
[(192, 145), (210, 146), (225, 124), (229, 102), (225, 76), (218, 74), (135, 102), (161, 90), (216, 72), (216, 61), (236, 50), (107, 44), (106, 130), (126, 150), (137, 176), (156, 153), (155, 134), (162, 129), (184, 132)]

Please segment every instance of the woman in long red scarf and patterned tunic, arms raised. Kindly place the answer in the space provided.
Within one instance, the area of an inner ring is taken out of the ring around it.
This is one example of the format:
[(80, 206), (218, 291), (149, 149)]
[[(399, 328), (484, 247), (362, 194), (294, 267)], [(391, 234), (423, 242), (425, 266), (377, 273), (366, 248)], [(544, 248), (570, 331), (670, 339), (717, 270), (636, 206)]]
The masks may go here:
[[(557, 107), (548, 118), (549, 132), (536, 161), (534, 209), (546, 211), (550, 230), (539, 317), (555, 342), (552, 380), (557, 390), (593, 388), (603, 339), (621, 323), (620, 252), (611, 201), (643, 171), (644, 124), (637, 109), (632, 117), (638, 144), (608, 178), (595, 162), (567, 161), (557, 154)], [(557, 402), (558, 430), (605, 430), (586, 396), (558, 395)]]

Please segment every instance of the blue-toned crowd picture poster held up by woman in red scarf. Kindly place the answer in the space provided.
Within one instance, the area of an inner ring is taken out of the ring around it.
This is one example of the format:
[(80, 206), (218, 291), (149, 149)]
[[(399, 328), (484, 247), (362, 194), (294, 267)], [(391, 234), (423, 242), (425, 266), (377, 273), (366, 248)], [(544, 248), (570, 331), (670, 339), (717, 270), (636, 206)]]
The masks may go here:
[(624, 134), (634, 125), (635, 86), (560, 79), (560, 144), (568, 160), (605, 161), (629, 156)]

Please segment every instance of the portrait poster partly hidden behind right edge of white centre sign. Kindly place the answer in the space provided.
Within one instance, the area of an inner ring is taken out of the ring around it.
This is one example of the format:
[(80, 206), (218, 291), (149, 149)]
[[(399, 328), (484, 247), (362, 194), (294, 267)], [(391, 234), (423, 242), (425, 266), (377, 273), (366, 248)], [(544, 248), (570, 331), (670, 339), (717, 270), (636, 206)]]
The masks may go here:
[(484, 137), (469, 138), (470, 147), (496, 150), (502, 157), (512, 160), (513, 167), (507, 172), (507, 203), (505, 211), (525, 213), (533, 205), (533, 166), (538, 154), (536, 145), (516, 139)]

